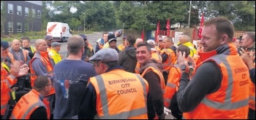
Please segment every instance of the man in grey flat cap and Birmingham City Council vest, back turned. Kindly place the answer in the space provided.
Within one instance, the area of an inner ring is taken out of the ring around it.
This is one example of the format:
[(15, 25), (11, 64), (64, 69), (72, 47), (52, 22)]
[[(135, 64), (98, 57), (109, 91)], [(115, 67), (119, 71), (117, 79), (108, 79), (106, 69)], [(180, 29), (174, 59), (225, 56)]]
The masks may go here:
[(148, 82), (117, 64), (116, 49), (100, 49), (90, 57), (98, 76), (91, 77), (83, 94), (78, 119), (153, 119)]

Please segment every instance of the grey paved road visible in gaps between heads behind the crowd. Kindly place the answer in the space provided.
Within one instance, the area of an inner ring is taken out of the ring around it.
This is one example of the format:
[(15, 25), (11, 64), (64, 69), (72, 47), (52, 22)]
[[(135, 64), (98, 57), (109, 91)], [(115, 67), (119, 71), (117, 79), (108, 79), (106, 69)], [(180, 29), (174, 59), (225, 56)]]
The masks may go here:
[[(101, 39), (102, 38), (102, 33), (103, 32), (94, 32), (94, 33), (90, 33), (90, 34), (86, 34), (87, 39), (89, 40), (89, 43), (93, 46), (93, 49), (95, 51), (95, 47), (96, 47), (96, 41), (97, 39)], [(31, 40), (31, 46), (34, 47), (34, 41), (35, 40)], [(60, 54), (63, 55), (64, 58), (67, 57), (67, 41), (65, 41), (64, 43), (61, 42), (61, 50), (60, 50)], [(121, 37), (118, 37), (117, 40), (117, 46), (121, 44)]]

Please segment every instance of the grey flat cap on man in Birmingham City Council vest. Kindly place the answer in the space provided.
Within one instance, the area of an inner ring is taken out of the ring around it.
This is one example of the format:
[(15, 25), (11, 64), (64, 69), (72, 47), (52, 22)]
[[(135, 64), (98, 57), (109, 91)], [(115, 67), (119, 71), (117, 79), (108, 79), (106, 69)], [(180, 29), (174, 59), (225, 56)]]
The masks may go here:
[(90, 61), (100, 60), (102, 62), (112, 62), (118, 60), (118, 53), (116, 49), (104, 48), (96, 52), (92, 57), (89, 58)]

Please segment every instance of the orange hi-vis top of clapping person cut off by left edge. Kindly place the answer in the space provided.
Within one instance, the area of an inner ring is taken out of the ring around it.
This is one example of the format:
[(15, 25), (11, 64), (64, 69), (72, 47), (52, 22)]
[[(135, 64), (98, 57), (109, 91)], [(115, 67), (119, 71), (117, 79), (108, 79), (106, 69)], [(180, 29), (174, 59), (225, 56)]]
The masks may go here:
[(1, 65), (1, 116), (7, 110), (8, 101), (10, 100), (10, 87), (15, 84), (17, 79), (9, 76), (9, 73)]

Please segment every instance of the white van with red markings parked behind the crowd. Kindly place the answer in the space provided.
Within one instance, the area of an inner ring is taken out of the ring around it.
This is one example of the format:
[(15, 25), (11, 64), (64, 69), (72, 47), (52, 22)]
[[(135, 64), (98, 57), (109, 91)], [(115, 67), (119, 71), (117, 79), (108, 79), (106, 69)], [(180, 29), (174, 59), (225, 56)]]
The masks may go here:
[(53, 41), (64, 42), (72, 36), (72, 32), (67, 23), (48, 22), (46, 32), (47, 35), (53, 36)]

